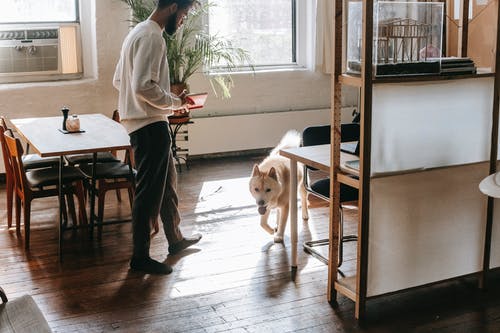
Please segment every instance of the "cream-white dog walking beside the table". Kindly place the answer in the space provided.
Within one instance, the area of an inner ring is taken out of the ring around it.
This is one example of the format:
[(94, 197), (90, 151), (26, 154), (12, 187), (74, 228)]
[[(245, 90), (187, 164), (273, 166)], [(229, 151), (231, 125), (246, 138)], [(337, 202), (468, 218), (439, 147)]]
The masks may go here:
[[(288, 131), (281, 142), (273, 149), (266, 159), (259, 165), (255, 164), (249, 182), (250, 193), (257, 203), (259, 214), (262, 215), (260, 225), (271, 235), (274, 234), (274, 242), (283, 242), (286, 221), (290, 206), (290, 160), (279, 155), (279, 150), (284, 148), (298, 147), (300, 145), (300, 133)], [(302, 168), (298, 170), (298, 189), (302, 204), (302, 218), (307, 220), (307, 192), (302, 183)], [(273, 229), (267, 223), (271, 209), (277, 208), (276, 228)]]

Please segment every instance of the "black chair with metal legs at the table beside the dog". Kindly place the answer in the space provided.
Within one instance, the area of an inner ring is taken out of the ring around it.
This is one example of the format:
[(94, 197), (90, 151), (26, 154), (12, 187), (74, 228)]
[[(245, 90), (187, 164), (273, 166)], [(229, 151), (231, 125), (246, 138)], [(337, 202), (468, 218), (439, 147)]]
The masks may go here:
[[(330, 144), (331, 136), (330, 125), (309, 126), (302, 132), (302, 145), (314, 146), (321, 144)], [(359, 139), (359, 124), (342, 124), (341, 125), (341, 142), (355, 141)], [(330, 201), (330, 178), (318, 177), (311, 182), (313, 174), (317, 169), (304, 165), (304, 186), (306, 190), (314, 196)], [(356, 235), (344, 235), (344, 221), (342, 205), (347, 202), (358, 200), (358, 190), (345, 184), (340, 184), (340, 223), (339, 223), (339, 258), (338, 266), (343, 263), (343, 243), (356, 241)], [(317, 246), (329, 245), (329, 239), (319, 239), (304, 242), (304, 250), (324, 263), (328, 263), (326, 258), (320, 251), (314, 249)]]

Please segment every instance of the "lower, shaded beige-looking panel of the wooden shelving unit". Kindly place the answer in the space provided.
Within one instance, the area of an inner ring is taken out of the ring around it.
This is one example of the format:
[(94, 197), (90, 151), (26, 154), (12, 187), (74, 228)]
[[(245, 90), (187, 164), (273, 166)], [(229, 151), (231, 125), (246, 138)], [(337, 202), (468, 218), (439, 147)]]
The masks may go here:
[(371, 180), (368, 296), (481, 270), (487, 174), (480, 163)]

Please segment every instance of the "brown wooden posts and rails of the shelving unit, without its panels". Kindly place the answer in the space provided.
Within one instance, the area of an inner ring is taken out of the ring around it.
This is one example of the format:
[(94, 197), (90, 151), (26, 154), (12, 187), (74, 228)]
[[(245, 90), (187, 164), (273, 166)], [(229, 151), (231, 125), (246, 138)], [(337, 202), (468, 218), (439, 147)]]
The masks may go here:
[[(469, 78), (494, 77), (494, 99), (492, 103), (492, 131), (491, 131), (491, 152), (489, 172), (495, 173), (498, 153), (498, 126), (499, 126), (499, 91), (500, 91), (500, 32), (496, 36), (496, 62), (495, 71), (492, 73), (480, 73), (474, 75), (456, 75), (456, 76), (413, 76), (397, 78), (374, 78), (373, 77), (373, 10), (374, 1), (361, 0), (363, 10), (362, 27), (362, 64), (361, 75), (349, 75), (343, 72), (343, 45), (345, 33), (344, 22), (346, 21), (344, 10), (346, 9), (346, 0), (334, 0), (334, 59), (332, 73), (332, 94), (331, 94), (331, 165), (330, 179), (335, 181), (330, 184), (330, 244), (329, 258), (331, 262), (328, 269), (328, 291), (327, 297), (330, 303), (335, 303), (337, 292), (350, 298), (355, 302), (355, 317), (362, 320), (366, 316), (367, 302), (367, 278), (368, 278), (368, 239), (369, 239), (369, 216), (370, 216), (370, 165), (371, 165), (371, 130), (372, 130), (372, 92), (373, 85), (377, 83), (397, 83), (397, 82), (425, 82), (438, 80), (459, 80)], [(447, 2), (447, 1), (443, 1)], [(462, 0), (461, 28), (459, 30), (459, 54), (467, 56), (468, 43), (468, 8), (469, 0)], [(497, 4), (498, 21), (497, 31), (500, 27), (500, 1)], [(368, 37), (368, 38), (367, 38)], [(360, 91), (360, 176), (356, 184), (359, 189), (359, 217), (358, 217), (358, 242), (357, 242), (357, 269), (354, 276), (340, 278), (337, 273), (337, 259), (339, 247), (338, 226), (340, 213), (336, 207), (339, 207), (340, 183), (345, 183), (345, 176), (340, 170), (340, 119), (341, 119), (341, 100), (342, 85), (358, 87)], [(490, 265), (490, 250), (493, 224), (493, 199), (488, 198), (486, 214), (486, 235), (483, 253), (483, 269), (480, 273), (479, 286), (486, 286), (487, 274)]]

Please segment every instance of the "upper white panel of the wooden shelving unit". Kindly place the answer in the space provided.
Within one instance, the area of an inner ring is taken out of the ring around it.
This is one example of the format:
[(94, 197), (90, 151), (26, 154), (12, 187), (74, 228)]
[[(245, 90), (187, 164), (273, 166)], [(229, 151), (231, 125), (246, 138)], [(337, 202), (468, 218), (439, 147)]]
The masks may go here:
[(373, 88), (372, 173), (489, 160), (493, 78)]

